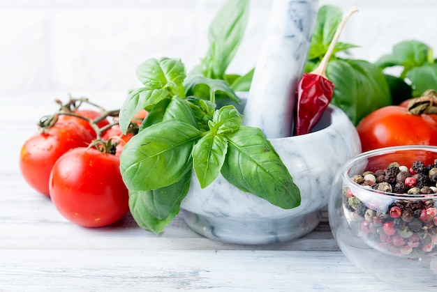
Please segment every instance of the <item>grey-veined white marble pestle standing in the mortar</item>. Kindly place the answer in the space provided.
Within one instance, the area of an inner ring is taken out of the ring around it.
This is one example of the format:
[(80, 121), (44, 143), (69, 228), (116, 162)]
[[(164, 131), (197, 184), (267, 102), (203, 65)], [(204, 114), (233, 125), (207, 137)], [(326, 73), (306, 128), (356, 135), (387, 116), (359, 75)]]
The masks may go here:
[(255, 66), (244, 125), (268, 139), (289, 137), (295, 88), (302, 77), (318, 13), (318, 0), (274, 0)]

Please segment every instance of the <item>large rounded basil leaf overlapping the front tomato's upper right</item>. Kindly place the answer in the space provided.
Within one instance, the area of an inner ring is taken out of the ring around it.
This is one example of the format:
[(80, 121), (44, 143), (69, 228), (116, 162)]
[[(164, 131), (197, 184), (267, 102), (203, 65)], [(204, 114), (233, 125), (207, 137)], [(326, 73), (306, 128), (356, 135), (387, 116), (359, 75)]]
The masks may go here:
[(120, 170), (128, 190), (156, 190), (181, 180), (202, 132), (182, 121), (163, 121), (138, 132), (124, 146)]

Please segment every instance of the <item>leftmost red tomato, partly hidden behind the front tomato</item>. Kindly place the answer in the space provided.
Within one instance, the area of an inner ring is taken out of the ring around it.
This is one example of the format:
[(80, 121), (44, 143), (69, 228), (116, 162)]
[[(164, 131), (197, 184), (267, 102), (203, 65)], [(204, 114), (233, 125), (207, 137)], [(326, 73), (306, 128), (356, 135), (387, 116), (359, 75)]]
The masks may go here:
[(89, 145), (93, 137), (75, 123), (59, 123), (47, 132), (38, 133), (24, 142), (19, 164), (27, 183), (49, 197), (50, 171), (61, 155), (76, 147)]

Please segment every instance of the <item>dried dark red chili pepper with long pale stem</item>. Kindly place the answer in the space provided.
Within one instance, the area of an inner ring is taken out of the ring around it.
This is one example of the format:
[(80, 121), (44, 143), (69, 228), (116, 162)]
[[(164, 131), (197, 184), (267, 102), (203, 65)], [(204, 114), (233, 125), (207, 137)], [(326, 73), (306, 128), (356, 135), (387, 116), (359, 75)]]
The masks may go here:
[(334, 84), (326, 77), (326, 67), (329, 58), (334, 52), (334, 47), (340, 36), (343, 26), (350, 15), (355, 13), (357, 8), (352, 8), (336, 29), (334, 38), (329, 44), (325, 56), (319, 66), (312, 72), (305, 73), (296, 86), (296, 114), (295, 114), (295, 135), (304, 135), (314, 128), (322, 118), (325, 109), (334, 95)]

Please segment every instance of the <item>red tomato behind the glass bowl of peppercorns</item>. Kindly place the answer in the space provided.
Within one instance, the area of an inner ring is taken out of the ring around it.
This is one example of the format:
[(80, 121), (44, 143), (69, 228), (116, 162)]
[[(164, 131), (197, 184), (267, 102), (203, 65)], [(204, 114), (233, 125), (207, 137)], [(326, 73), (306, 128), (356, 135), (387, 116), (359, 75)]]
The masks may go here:
[(357, 125), (362, 151), (400, 145), (437, 146), (437, 120), (415, 116), (406, 107), (388, 106), (371, 112)]

